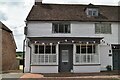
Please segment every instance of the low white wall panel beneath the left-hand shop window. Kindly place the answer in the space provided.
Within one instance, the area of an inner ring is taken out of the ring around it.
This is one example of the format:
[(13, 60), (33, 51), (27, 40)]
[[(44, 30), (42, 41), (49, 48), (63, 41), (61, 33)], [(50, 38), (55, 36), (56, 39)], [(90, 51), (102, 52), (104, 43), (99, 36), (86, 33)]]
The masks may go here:
[(58, 66), (31, 66), (31, 73), (58, 73)]

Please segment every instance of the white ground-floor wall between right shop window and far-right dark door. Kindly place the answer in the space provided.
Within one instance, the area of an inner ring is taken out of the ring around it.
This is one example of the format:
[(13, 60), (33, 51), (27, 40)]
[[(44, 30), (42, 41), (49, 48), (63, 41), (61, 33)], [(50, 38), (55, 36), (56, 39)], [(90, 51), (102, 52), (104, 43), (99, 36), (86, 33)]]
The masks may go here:
[(112, 56), (109, 56), (109, 50), (111, 50), (108, 45), (100, 45), (100, 63), (101, 63), (101, 71), (107, 70), (106, 66), (112, 66)]

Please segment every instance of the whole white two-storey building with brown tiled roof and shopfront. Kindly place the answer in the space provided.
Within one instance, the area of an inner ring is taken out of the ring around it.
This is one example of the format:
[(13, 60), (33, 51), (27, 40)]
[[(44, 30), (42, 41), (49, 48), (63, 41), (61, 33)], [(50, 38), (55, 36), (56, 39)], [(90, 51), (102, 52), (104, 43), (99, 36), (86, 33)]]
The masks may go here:
[(116, 70), (120, 60), (119, 6), (44, 4), (26, 18), (24, 72)]

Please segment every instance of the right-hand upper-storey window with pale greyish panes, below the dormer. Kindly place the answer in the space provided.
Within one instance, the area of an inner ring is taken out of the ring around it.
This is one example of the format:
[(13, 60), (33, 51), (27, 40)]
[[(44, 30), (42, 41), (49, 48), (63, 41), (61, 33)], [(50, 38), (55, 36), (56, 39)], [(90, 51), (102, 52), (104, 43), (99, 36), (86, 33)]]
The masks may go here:
[(110, 23), (96, 23), (95, 33), (96, 34), (111, 34), (111, 24)]

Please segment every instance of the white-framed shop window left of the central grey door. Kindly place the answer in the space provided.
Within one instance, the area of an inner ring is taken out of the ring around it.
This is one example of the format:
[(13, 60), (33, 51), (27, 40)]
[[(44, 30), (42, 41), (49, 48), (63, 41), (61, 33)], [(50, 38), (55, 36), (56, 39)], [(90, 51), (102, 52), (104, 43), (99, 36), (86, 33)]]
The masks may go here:
[(33, 65), (56, 64), (56, 57), (56, 45), (34, 45), (32, 54)]

